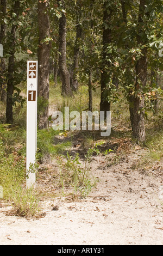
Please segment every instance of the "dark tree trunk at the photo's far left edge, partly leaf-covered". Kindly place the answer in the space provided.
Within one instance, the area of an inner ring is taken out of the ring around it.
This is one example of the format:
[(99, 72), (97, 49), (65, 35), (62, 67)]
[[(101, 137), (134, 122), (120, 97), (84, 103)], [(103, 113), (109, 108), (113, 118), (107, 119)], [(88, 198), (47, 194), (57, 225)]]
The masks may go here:
[[(6, 14), (6, 8), (7, 8), (7, 2), (6, 0), (1, 0), (1, 11), (3, 18)], [(6, 25), (5, 23), (1, 24), (1, 32), (0, 32), (0, 44), (4, 45), (4, 37), (5, 37), (5, 30)], [(7, 87), (6, 81), (4, 79), (4, 73), (5, 73), (5, 60), (3, 57), (0, 58), (0, 100), (5, 102), (7, 93), (5, 92), (5, 89)]]

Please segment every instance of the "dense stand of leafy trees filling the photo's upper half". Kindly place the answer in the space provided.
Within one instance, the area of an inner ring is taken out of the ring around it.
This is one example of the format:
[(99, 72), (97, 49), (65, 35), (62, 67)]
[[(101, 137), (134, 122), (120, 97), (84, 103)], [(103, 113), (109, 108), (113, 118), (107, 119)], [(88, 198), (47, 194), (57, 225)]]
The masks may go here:
[(162, 97), (161, 0), (1, 0), (0, 19), (7, 123), (13, 122), (16, 102), (25, 101), (20, 84), (26, 81), (27, 60), (38, 59), (38, 96), (45, 108), (41, 129), (48, 127), (49, 77), (56, 84), (60, 76), (62, 96), (73, 97), (79, 84), (87, 84), (89, 110), (98, 86), (101, 111), (126, 97), (133, 136), (137, 143), (145, 141), (147, 110), (156, 112)]

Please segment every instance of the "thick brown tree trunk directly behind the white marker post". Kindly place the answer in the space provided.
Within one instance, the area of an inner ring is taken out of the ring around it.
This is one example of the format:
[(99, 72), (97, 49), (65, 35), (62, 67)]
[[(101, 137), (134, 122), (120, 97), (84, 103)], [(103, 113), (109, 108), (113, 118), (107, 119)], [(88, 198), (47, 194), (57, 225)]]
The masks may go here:
[(38, 96), (40, 105), (44, 109), (38, 109), (39, 129), (48, 128), (48, 100), (49, 100), (49, 56), (51, 42), (46, 41), (50, 36), (50, 21), (47, 14), (49, 7), (48, 1), (38, 2), (38, 21), (39, 21), (39, 51), (38, 51)]

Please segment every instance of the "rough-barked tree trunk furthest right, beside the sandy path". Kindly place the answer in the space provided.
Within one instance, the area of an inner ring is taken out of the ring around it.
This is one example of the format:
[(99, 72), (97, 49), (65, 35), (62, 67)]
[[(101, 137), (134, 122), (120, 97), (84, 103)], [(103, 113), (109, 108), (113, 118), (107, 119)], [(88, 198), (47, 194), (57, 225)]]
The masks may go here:
[[(140, 33), (143, 32), (143, 16), (145, 15), (146, 0), (140, 0), (138, 26)], [(137, 34), (137, 44), (144, 45), (141, 35)], [(134, 127), (133, 135), (136, 142), (141, 144), (146, 139), (145, 132), (145, 96), (143, 95), (143, 88), (147, 83), (147, 48), (143, 47), (142, 55), (136, 63), (136, 82), (135, 82), (135, 99), (134, 99)]]

